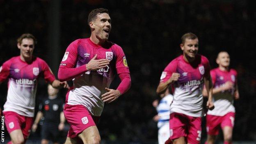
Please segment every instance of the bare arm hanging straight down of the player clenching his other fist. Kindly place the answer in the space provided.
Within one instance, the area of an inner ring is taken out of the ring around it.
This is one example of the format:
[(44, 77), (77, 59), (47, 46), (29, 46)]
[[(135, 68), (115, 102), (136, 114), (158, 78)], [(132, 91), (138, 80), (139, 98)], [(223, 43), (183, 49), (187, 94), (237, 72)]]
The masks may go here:
[(210, 77), (210, 75), (208, 75), (207, 77), (204, 77), (204, 85), (207, 91), (207, 95), (208, 95), (208, 101), (206, 103), (206, 107), (209, 110), (213, 110), (214, 109), (214, 104), (213, 104), (213, 83), (212, 83), (212, 78)]

